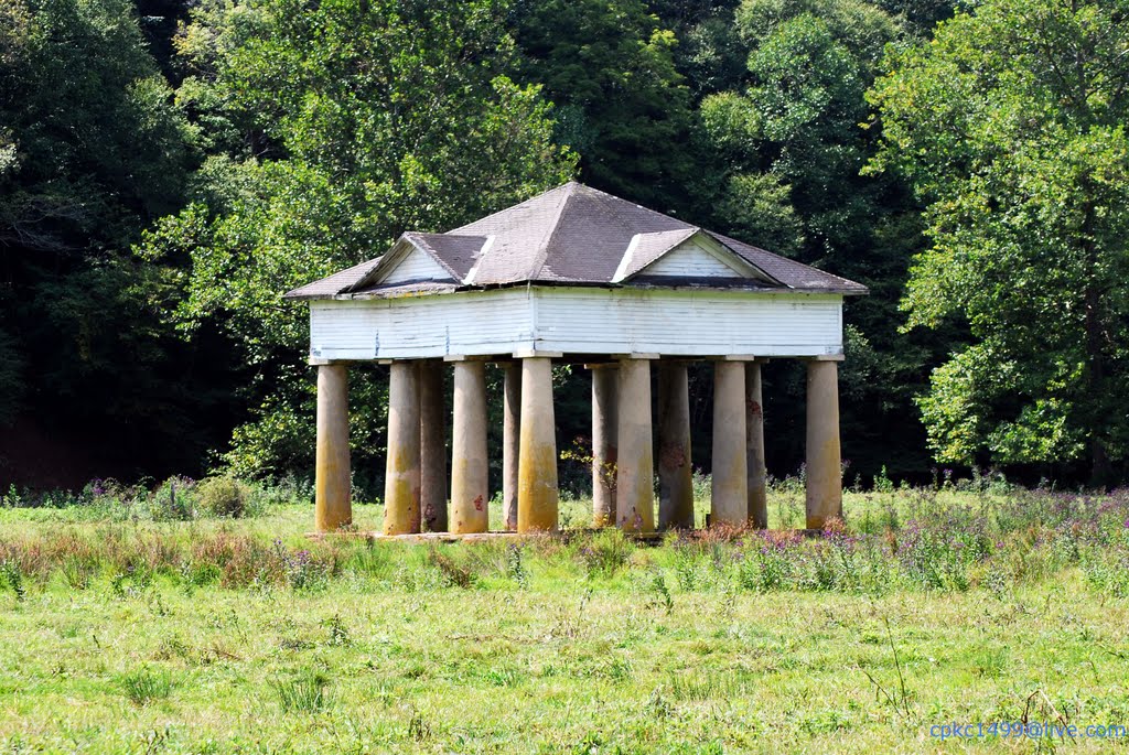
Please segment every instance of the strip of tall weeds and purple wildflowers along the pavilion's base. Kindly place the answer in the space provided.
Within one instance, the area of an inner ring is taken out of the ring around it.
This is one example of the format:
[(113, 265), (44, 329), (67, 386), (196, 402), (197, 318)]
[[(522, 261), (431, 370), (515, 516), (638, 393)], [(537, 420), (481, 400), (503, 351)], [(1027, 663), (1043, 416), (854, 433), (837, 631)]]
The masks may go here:
[[(790, 506), (795, 494), (787, 485), (773, 489), (770, 506)], [(309, 542), (289, 535), (287, 542), (273, 535), (270, 519), (260, 527), (41, 520), (0, 532), (0, 590), (24, 599), (54, 581), (76, 591), (105, 585), (120, 597), (135, 597), (155, 580), (187, 590), (318, 590), (339, 579), (405, 591), (513, 589), (530, 587), (541, 574), (586, 581), (630, 577), (654, 586), (657, 570), (664, 585), (668, 578), (683, 592), (882, 595), (893, 589), (960, 592), (1077, 568), (1094, 589), (1129, 595), (1129, 491), (908, 489), (849, 494), (846, 508), (844, 523), (814, 537), (789, 529), (714, 527), (671, 534), (660, 548), (614, 528), (519, 546), (485, 542), (425, 550), (362, 538)], [(296, 507), (274, 510), (299, 521), (308, 513)]]

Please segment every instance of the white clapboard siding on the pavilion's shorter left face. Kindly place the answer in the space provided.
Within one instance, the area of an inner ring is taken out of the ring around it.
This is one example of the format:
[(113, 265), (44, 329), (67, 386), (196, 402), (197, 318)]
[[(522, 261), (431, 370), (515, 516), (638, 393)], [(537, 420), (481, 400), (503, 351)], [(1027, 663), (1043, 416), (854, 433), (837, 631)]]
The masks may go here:
[(313, 301), (309, 351), (321, 359), (496, 354), (533, 348), (526, 289)]

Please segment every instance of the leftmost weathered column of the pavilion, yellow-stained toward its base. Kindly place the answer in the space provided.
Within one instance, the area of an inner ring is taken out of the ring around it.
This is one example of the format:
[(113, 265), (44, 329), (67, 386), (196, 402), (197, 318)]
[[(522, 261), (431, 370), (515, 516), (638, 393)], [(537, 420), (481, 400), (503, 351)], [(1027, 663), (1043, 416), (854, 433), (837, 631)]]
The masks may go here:
[(314, 472), (317, 532), (332, 532), (352, 524), (349, 476), (349, 372), (344, 365), (320, 365)]

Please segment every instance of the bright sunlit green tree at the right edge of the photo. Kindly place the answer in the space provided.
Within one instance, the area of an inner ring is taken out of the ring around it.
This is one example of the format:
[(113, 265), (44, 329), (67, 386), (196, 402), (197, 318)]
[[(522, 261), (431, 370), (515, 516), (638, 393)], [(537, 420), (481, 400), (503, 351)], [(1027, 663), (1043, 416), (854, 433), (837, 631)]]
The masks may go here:
[(939, 459), (1086, 460), (1105, 484), (1129, 453), (1127, 20), (1124, 0), (987, 0), (892, 51), (872, 93), (874, 169), (928, 203), (908, 327), (970, 335), (920, 401)]

